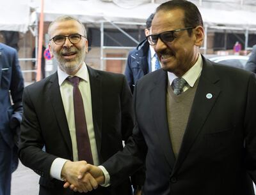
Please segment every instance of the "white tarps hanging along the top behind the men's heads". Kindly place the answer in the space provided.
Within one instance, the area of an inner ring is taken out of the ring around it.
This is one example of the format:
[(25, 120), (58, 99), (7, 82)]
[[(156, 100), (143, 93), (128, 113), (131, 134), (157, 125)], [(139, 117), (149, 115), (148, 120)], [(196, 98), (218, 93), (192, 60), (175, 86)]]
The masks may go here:
[[(254, 1), (254, 0), (253, 0)], [(156, 1), (157, 2), (157, 1)], [(195, 1), (193, 1), (195, 3)], [(204, 0), (203, 0), (204, 2)], [(0, 31), (28, 31), (32, 20), (29, 16), (31, 6), (40, 14), (40, 0), (1, 0)], [(60, 15), (74, 15), (82, 22), (99, 23), (112, 22), (141, 22), (145, 23), (150, 13), (159, 4), (145, 3), (135, 8), (125, 9), (115, 3), (100, 0), (44, 0), (44, 20), (52, 21)], [(256, 11), (247, 11), (238, 6), (237, 9), (221, 10), (213, 6), (198, 6), (205, 24), (226, 25), (237, 27), (256, 27)]]

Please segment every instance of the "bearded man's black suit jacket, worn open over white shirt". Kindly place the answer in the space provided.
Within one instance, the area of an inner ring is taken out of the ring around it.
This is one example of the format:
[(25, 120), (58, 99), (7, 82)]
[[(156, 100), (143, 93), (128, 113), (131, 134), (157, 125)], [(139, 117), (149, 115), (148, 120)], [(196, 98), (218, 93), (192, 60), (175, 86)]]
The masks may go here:
[[(100, 163), (122, 150), (122, 140), (132, 133), (132, 94), (124, 75), (88, 67), (92, 95), (92, 115)], [(73, 159), (72, 143), (61, 100), (58, 75), (54, 73), (24, 89), (20, 161), (41, 175), (40, 194), (73, 194), (63, 182), (49, 175), (56, 157)], [(42, 147), (45, 145), (45, 151)], [(131, 194), (131, 182), (97, 189), (95, 194)], [(92, 194), (92, 193), (89, 193)]]

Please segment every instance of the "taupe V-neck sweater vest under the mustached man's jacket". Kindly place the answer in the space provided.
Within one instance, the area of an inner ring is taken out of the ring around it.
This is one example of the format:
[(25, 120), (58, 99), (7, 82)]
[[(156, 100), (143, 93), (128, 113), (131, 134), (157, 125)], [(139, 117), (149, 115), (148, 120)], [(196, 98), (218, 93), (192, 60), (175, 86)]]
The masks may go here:
[(188, 123), (189, 113), (195, 97), (198, 80), (193, 88), (182, 92), (179, 96), (173, 93), (172, 86), (168, 83), (166, 94), (167, 119), (175, 157), (178, 156), (182, 138)]

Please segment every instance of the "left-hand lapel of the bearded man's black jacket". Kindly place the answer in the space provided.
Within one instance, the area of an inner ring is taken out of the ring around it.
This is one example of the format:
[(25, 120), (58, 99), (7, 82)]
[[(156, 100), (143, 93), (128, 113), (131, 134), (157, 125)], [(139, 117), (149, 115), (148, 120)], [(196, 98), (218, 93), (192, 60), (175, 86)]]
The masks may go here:
[(54, 75), (52, 75), (50, 82), (51, 84), (49, 86), (49, 94), (51, 96), (51, 103), (52, 103), (55, 116), (58, 120), (58, 126), (60, 126), (60, 131), (63, 135), (65, 142), (68, 145), (68, 150), (70, 154), (73, 154), (72, 142), (71, 142), (70, 133), (68, 129), (67, 117), (65, 115), (65, 110), (64, 110), (62, 99), (61, 99), (60, 85), (58, 82), (57, 73), (54, 73)]

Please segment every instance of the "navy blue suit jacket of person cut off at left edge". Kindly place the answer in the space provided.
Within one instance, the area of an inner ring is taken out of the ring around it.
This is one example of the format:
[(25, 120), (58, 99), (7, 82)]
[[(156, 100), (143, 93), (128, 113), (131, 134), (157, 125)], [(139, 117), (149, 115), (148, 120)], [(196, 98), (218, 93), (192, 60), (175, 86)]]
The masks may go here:
[[(17, 51), (0, 43), (0, 136), (8, 143), (10, 148), (17, 152), (15, 147), (16, 127), (22, 113), (22, 92), (24, 80), (18, 61)], [(10, 94), (12, 96), (12, 102)], [(9, 162), (11, 163), (11, 162)], [(17, 168), (17, 154), (13, 159), (13, 170)]]

